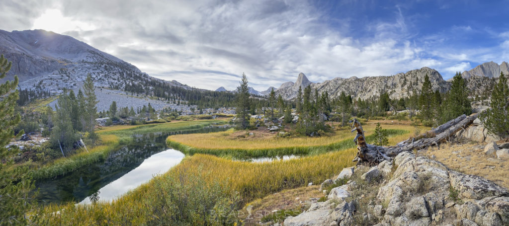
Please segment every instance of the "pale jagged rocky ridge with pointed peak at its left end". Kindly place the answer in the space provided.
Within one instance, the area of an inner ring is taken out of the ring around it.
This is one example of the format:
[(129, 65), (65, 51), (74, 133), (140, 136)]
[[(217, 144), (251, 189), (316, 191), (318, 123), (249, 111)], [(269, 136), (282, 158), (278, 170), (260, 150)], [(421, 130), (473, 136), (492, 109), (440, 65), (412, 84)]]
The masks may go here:
[(411, 70), (406, 73), (399, 73), (392, 76), (374, 76), (374, 77), (350, 77), (334, 78), (321, 83), (310, 82), (303, 73), (299, 73), (297, 81), (288, 86), (288, 82), (281, 85), (276, 91), (285, 99), (293, 99), (297, 96), (299, 87), (304, 88), (309, 85), (313, 90), (319, 92), (327, 91), (330, 97), (337, 97), (341, 92), (352, 95), (355, 98), (367, 99), (372, 96), (380, 96), (388, 92), (391, 98), (401, 98), (412, 94), (413, 90), (420, 90), (424, 77), (428, 74), (434, 90), (446, 92), (450, 84), (443, 80), (442, 75), (435, 69), (423, 67), (421, 69)]

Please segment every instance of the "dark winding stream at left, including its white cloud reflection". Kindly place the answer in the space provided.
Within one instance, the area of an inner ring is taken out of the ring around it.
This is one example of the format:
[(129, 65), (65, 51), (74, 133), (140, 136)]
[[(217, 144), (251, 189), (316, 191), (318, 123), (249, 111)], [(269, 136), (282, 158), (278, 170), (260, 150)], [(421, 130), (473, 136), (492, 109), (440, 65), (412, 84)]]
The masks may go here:
[(65, 176), (37, 181), (38, 201), (41, 204), (69, 201), (90, 203), (89, 197), (93, 194), (99, 197), (99, 201), (111, 201), (180, 163), (184, 154), (168, 149), (168, 135), (227, 129), (229, 127), (218, 126), (134, 135), (133, 142), (112, 151), (104, 161), (81, 167)]

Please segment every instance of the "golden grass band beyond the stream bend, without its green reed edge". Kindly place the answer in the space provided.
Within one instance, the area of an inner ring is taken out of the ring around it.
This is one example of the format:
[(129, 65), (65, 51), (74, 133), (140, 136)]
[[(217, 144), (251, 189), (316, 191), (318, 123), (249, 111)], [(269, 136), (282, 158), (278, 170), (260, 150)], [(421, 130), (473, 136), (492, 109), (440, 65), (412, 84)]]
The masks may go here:
[[(383, 129), (402, 129), (413, 131), (410, 125), (382, 125)], [(374, 125), (366, 125), (363, 127), (366, 136), (374, 133)], [(288, 147), (312, 147), (325, 146), (337, 143), (344, 139), (353, 139), (355, 133), (351, 133), (348, 129), (335, 131), (330, 136), (309, 137), (298, 136), (289, 138), (261, 137), (253, 139), (239, 139), (231, 137), (234, 130), (216, 133), (196, 133), (172, 135), (168, 137), (171, 142), (177, 142), (186, 146), (204, 149), (270, 149), (270, 148), (288, 148)]]

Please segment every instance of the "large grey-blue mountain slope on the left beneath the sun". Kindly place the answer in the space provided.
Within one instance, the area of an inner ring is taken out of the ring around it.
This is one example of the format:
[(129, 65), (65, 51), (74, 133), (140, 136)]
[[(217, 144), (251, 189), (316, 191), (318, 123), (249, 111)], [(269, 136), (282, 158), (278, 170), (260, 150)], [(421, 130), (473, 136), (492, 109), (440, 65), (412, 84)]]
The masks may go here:
[(165, 81), (70, 36), (44, 30), (0, 30), (0, 53), (12, 61), (5, 79), (18, 75), (20, 89), (43, 89), (52, 94), (77, 89), (90, 73), (96, 87), (138, 90), (154, 82), (190, 89), (177, 81)]

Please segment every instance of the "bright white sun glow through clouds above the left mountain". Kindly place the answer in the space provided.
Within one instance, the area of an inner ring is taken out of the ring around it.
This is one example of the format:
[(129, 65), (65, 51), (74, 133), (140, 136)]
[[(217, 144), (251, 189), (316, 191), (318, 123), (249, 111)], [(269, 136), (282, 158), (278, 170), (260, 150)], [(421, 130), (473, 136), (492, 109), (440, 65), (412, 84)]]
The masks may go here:
[(46, 10), (40, 17), (34, 20), (32, 26), (32, 29), (43, 29), (59, 34), (69, 31), (90, 31), (95, 28), (92, 23), (65, 17), (58, 9)]

